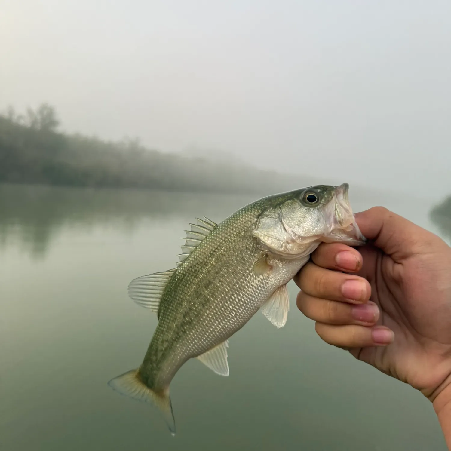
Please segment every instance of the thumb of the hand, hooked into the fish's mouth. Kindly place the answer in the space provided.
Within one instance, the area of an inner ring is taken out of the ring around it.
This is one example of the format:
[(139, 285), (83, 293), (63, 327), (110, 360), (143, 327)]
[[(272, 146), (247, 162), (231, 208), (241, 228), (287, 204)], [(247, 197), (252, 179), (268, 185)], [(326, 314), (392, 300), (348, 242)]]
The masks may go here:
[(427, 253), (431, 244), (440, 240), (428, 230), (384, 207), (373, 207), (356, 213), (355, 220), (362, 234), (395, 261), (415, 253)]

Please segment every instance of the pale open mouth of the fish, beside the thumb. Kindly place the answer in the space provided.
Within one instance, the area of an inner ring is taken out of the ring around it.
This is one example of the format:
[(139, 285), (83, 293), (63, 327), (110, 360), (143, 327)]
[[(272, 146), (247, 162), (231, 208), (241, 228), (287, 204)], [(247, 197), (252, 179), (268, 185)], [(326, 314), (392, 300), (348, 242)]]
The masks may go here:
[(330, 233), (323, 237), (326, 243), (344, 243), (350, 246), (360, 246), (367, 242), (354, 218), (349, 203), (349, 184), (343, 183), (335, 187), (333, 198), (325, 209), (327, 224), (331, 225)]

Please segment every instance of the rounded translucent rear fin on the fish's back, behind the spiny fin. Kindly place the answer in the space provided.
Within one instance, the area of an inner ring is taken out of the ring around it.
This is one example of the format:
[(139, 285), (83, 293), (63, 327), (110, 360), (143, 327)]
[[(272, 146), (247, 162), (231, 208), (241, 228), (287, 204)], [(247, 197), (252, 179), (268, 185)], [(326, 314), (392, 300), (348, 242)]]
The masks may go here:
[(142, 307), (158, 313), (161, 295), (177, 268), (137, 277), (129, 283), (129, 296)]

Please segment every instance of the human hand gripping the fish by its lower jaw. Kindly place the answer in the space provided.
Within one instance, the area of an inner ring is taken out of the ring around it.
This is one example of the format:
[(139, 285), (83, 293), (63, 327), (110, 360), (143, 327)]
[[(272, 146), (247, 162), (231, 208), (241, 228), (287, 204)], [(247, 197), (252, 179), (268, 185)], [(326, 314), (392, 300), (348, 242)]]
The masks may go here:
[(451, 383), (451, 248), (382, 207), (356, 220), (369, 243), (321, 244), (297, 306), (322, 340), (434, 401)]

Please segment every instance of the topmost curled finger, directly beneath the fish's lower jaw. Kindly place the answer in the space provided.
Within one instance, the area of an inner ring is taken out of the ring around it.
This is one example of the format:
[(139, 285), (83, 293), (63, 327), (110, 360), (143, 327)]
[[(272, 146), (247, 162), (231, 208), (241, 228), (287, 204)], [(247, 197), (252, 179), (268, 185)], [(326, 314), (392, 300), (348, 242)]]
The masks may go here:
[(358, 250), (341, 243), (321, 243), (311, 258), (320, 267), (344, 272), (358, 272), (363, 264)]

